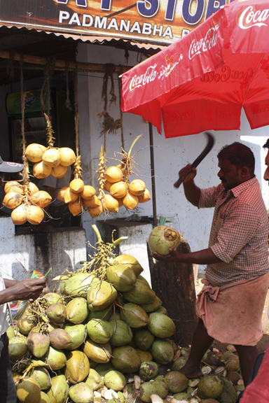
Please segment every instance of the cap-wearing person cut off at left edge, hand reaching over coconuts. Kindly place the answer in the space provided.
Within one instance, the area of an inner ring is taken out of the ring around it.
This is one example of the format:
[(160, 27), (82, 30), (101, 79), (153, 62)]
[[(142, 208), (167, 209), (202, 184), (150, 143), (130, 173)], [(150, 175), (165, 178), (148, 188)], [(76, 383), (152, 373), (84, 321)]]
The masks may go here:
[[(4, 185), (7, 172), (15, 173), (23, 169), (22, 164), (4, 162), (0, 157), (0, 186)], [(16, 403), (17, 393), (11, 372), (11, 362), (8, 355), (8, 337), (6, 330), (11, 323), (8, 302), (14, 300), (32, 300), (39, 297), (46, 287), (46, 278), (27, 279), (24, 281), (8, 280), (0, 274), (0, 402)]]

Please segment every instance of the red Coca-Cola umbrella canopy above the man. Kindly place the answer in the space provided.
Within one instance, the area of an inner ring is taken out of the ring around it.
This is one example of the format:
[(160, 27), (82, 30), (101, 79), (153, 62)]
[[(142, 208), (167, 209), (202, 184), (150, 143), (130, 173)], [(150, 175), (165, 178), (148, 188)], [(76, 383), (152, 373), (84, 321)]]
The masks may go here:
[(269, 0), (233, 1), (123, 74), (123, 112), (166, 137), (269, 125)]

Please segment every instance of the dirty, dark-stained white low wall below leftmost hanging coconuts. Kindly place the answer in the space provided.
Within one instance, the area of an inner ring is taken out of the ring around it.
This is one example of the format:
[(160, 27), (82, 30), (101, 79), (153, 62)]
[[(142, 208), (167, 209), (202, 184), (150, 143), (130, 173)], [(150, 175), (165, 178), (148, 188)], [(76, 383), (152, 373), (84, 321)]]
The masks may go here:
[(87, 260), (85, 230), (70, 229), (64, 232), (34, 232), (15, 235), (11, 218), (0, 218), (0, 273), (4, 278), (24, 280), (36, 269), (48, 274), (50, 290), (55, 287), (52, 278), (65, 269), (74, 271), (81, 260)]

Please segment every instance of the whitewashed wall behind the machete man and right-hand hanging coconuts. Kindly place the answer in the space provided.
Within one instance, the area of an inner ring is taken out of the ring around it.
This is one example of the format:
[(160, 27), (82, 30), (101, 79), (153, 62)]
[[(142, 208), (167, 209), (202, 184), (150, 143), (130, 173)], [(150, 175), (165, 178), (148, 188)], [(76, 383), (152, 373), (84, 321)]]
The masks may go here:
[[(78, 46), (79, 62), (91, 63), (113, 63), (126, 65), (124, 50), (116, 50), (106, 46), (96, 46), (91, 44), (80, 44)], [(137, 64), (137, 53), (130, 52), (128, 64), (133, 66)], [(97, 183), (97, 165), (98, 156), (103, 138), (100, 137), (102, 132), (102, 120), (97, 118), (97, 113), (103, 111), (104, 101), (102, 100), (102, 83), (103, 73), (79, 73), (78, 76), (78, 112), (80, 115), (80, 152), (83, 162), (83, 181), (92, 184), (98, 188)], [(109, 114), (114, 120), (120, 118), (120, 108), (118, 99), (118, 79), (114, 74), (114, 85), (117, 96), (116, 106), (113, 104), (108, 108)], [(109, 80), (109, 90), (111, 83)], [(109, 92), (109, 91), (108, 91)], [(108, 94), (110, 99), (110, 96)], [(144, 134), (142, 139), (137, 142), (134, 153), (135, 161), (139, 174), (146, 182), (147, 187), (151, 190), (151, 171), (150, 171), (150, 151), (149, 151), (149, 126), (144, 122), (142, 117), (132, 115), (130, 113), (123, 114), (123, 132), (125, 138), (125, 150), (128, 150), (130, 144), (139, 134)], [(256, 176), (261, 183), (263, 195), (267, 208), (269, 207), (268, 184), (263, 181), (263, 171), (265, 170), (264, 158), (265, 150), (262, 146), (269, 137), (269, 127), (251, 130), (249, 123), (242, 113), (242, 125), (240, 131), (214, 132), (216, 143), (213, 150), (202, 161), (198, 167), (198, 174), (195, 179), (201, 188), (207, 188), (219, 184), (219, 178), (216, 176), (218, 172), (218, 161), (216, 154), (226, 144), (234, 141), (241, 141), (251, 148), (256, 158)], [(154, 141), (154, 160), (156, 169), (156, 198), (157, 198), (157, 215), (164, 215), (172, 221), (171, 226), (183, 234), (184, 238), (191, 246), (191, 250), (200, 250), (207, 248), (209, 239), (209, 231), (213, 210), (205, 209), (198, 211), (186, 201), (183, 188), (178, 190), (174, 188), (173, 183), (177, 181), (178, 171), (188, 162), (193, 162), (205, 148), (206, 138), (202, 134), (192, 136), (182, 136), (175, 139), (165, 139), (164, 134), (160, 136), (157, 130), (153, 128)], [(106, 135), (106, 157), (109, 161), (107, 166), (115, 164), (110, 158), (117, 158), (116, 151), (120, 152), (120, 129), (116, 136), (112, 134)], [(135, 178), (135, 175), (133, 175)], [(141, 215), (149, 215), (152, 217), (152, 203), (139, 204), (139, 213)], [(125, 211), (120, 208), (119, 213), (109, 213), (107, 219), (127, 217), (132, 212)], [(101, 217), (104, 219), (104, 215)], [(88, 213), (83, 215), (83, 227), (86, 229), (86, 239), (90, 243), (96, 242), (92, 232), (91, 225), (96, 220), (92, 220)], [(123, 235), (123, 234), (122, 234)], [(146, 238), (141, 239), (140, 243), (145, 244)], [(137, 240), (136, 240), (137, 242)], [(137, 246), (138, 247), (138, 246)], [(132, 248), (133, 249), (133, 248)], [(88, 248), (90, 251), (90, 248)], [(125, 253), (127, 253), (125, 251)], [(200, 267), (200, 270), (203, 268)]]

